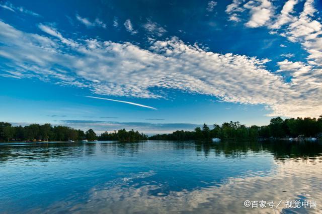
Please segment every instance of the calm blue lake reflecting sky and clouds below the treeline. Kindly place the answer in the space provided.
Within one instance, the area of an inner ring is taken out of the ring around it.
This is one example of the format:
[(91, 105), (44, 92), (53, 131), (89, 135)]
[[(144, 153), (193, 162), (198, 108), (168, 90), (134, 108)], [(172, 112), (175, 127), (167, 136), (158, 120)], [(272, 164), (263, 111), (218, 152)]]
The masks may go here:
[(322, 212), (322, 142), (1, 143), (0, 174), (1, 213)]

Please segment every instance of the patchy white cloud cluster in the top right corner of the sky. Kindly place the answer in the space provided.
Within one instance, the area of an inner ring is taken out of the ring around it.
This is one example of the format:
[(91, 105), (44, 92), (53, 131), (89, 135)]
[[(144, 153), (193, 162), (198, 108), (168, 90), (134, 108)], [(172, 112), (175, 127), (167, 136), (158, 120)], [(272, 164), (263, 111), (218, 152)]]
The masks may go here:
[(251, 18), (245, 24), (247, 27), (267, 26), (273, 30), (270, 34), (279, 34), (291, 42), (300, 43), (309, 54), (307, 62), (322, 66), (322, 24), (320, 18), (315, 17), (319, 12), (314, 8), (314, 0), (306, 0), (299, 15), (294, 11), (298, 0), (288, 0), (276, 18), (272, 17), (275, 7), (268, 0), (251, 0), (243, 6), (244, 9), (240, 9), (244, 2), (233, 0), (227, 6), (226, 13), (230, 15), (230, 20), (240, 21), (240, 14), (237, 13), (248, 9)]

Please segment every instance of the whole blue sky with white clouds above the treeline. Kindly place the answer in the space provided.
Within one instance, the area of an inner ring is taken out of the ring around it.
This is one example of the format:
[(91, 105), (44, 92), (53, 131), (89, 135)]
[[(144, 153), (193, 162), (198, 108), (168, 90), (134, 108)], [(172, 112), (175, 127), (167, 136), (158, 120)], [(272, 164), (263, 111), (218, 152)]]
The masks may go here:
[(322, 115), (322, 1), (1, 1), (0, 121), (146, 134)]

